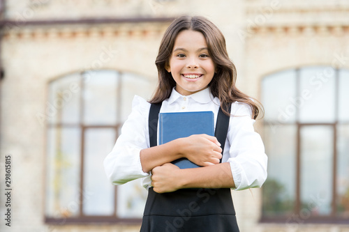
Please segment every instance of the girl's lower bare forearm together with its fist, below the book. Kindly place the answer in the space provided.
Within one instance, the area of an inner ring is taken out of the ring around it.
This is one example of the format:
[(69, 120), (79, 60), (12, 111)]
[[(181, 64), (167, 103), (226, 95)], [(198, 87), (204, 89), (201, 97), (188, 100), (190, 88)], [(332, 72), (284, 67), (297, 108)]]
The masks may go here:
[(235, 187), (229, 163), (195, 169), (179, 169), (173, 164), (163, 164), (151, 171), (151, 185), (158, 193), (173, 192), (182, 188), (233, 188)]

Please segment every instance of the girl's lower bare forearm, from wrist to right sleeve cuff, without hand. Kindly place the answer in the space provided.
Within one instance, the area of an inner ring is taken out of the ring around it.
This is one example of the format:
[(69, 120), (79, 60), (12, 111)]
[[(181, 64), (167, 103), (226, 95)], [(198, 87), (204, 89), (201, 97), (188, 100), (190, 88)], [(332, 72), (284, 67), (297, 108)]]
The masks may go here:
[(229, 163), (215, 164), (196, 169), (179, 171), (179, 188), (233, 188), (232, 171)]

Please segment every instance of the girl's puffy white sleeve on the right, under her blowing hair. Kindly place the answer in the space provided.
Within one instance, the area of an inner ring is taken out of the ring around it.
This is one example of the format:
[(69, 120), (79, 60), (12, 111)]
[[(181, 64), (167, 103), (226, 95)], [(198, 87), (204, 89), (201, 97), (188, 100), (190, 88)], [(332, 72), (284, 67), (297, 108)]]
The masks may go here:
[(267, 179), (267, 155), (260, 135), (255, 132), (251, 107), (235, 102), (228, 129), (229, 155), (235, 190), (261, 187)]

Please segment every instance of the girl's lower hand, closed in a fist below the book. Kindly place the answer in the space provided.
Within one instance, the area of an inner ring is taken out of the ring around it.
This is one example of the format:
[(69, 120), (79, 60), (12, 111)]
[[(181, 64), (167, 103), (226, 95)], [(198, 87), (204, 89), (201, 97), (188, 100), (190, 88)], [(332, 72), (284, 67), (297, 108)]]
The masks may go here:
[(163, 193), (178, 190), (180, 185), (176, 173), (180, 170), (179, 167), (170, 163), (154, 167), (151, 171), (151, 185), (154, 187), (154, 191)]

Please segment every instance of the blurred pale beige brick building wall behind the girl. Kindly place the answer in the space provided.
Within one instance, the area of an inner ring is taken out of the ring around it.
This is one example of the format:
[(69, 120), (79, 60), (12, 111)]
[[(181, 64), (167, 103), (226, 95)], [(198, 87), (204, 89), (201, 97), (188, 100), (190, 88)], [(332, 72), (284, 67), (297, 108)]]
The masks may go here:
[[(303, 65), (349, 68), (347, 1), (11, 0), (6, 6), (6, 17), (18, 24), (6, 28), (1, 42), (6, 74), (1, 83), (1, 162), (11, 154), (14, 170), (13, 227), (9, 230), (1, 222), (1, 231), (139, 231), (139, 225), (43, 223), (46, 141), (37, 114), (47, 107), (47, 83), (70, 72), (107, 68), (155, 83), (154, 60), (168, 26), (24, 26), (22, 21), (204, 15), (225, 34), (239, 88), (255, 98), (260, 97), (262, 77), (271, 72)], [(349, 231), (336, 225), (259, 224), (261, 191), (233, 192), (233, 197), (241, 231)]]

